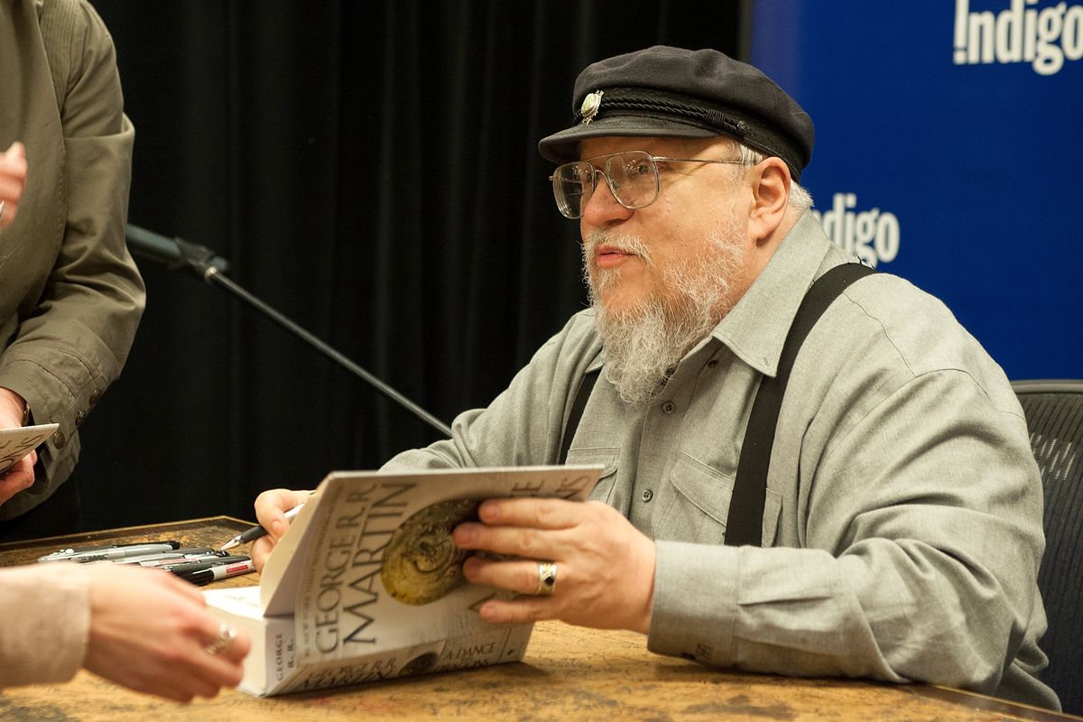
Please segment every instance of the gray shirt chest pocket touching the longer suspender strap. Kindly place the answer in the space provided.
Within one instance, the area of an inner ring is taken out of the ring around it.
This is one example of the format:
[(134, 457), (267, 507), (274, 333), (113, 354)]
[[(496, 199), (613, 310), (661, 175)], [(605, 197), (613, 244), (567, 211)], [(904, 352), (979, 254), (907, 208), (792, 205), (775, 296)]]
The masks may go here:
[(665, 485), (667, 499), (654, 517), (654, 538), (720, 544), (733, 495), (733, 477), (681, 455)]

